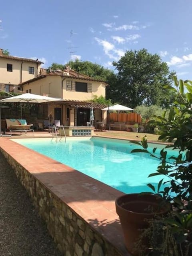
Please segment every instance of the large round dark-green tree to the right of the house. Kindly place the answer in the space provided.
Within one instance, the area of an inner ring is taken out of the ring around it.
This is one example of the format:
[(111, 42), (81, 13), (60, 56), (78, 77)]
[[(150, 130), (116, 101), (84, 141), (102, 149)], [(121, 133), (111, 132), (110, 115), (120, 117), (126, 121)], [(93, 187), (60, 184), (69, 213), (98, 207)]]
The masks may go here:
[(107, 98), (131, 108), (145, 104), (167, 108), (174, 101), (175, 92), (163, 88), (172, 83), (175, 74), (158, 54), (146, 49), (127, 51), (118, 62), (113, 62), (118, 71), (116, 81), (110, 83)]

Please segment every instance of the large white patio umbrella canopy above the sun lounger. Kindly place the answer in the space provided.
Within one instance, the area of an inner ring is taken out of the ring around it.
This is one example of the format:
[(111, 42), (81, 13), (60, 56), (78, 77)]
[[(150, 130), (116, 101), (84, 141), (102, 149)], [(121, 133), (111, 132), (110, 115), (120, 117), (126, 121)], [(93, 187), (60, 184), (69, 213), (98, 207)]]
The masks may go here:
[[(45, 102), (54, 102), (54, 101), (62, 101), (62, 99), (59, 98), (52, 98), (47, 96), (42, 96), (38, 94), (32, 94), (32, 93), (24, 93), (20, 94), (18, 96), (9, 97), (0, 100), (0, 102), (20, 102), (20, 103), (45, 103)], [(1, 120), (1, 116), (0, 116)], [(0, 130), (1, 134), (1, 130)]]

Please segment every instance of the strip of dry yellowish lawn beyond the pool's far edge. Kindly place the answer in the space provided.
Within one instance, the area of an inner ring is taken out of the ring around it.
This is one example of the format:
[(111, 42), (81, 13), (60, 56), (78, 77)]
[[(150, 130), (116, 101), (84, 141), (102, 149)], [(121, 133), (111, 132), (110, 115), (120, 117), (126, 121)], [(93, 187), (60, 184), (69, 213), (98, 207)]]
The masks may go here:
[(141, 139), (146, 135), (148, 141), (152, 142), (161, 142), (158, 140), (159, 135), (156, 134), (150, 134), (150, 133), (138, 133), (138, 132), (121, 132), (121, 131), (95, 131), (95, 135), (98, 136), (104, 136), (104, 137), (111, 137), (111, 138), (121, 138), (121, 139), (127, 139), (127, 140), (138, 140), (141, 141)]

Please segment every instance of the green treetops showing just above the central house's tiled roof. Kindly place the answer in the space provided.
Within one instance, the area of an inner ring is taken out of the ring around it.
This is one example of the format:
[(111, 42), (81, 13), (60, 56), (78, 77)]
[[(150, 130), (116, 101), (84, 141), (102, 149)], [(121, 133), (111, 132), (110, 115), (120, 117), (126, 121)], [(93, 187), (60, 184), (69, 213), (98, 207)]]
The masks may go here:
[[(66, 66), (69, 66), (69, 63), (66, 65), (52, 63), (50, 67), (48, 67), (48, 72), (51, 70), (64, 70)], [(108, 81), (108, 78), (114, 74), (114, 72), (108, 68), (104, 68), (103, 66), (92, 63), (90, 61), (81, 61), (76, 59), (75, 61), (70, 62), (70, 67), (86, 76), (93, 77), (98, 80)]]

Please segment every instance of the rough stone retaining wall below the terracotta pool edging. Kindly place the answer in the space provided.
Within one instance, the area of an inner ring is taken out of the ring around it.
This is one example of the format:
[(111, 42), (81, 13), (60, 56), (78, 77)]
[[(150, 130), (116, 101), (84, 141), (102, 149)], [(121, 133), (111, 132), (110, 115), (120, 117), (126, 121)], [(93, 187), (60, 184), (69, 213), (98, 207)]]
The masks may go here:
[[(46, 188), (30, 172), (0, 148), (16, 176), (32, 198), (36, 210), (45, 220), (59, 250), (66, 256), (120, 256), (111, 243), (94, 230), (74, 210)], [(89, 209), (88, 209), (89, 210)]]

